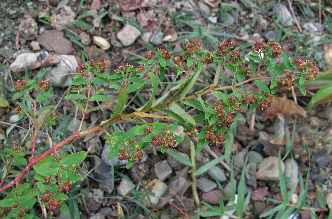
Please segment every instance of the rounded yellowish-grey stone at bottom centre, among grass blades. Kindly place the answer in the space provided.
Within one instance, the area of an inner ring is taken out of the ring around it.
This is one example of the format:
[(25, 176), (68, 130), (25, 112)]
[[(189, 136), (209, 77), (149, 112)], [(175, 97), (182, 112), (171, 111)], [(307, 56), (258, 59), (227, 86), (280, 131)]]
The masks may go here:
[[(158, 196), (158, 197), (162, 196), (165, 193), (165, 191), (167, 190), (167, 188), (168, 188), (167, 184), (158, 179), (154, 179), (145, 185), (146, 191), (153, 192), (155, 194), (155, 196)], [(143, 191), (143, 189), (141, 189), (141, 191)], [(144, 197), (146, 200), (148, 200), (147, 197), (145, 196), (145, 194), (144, 194)], [(157, 205), (159, 202), (159, 198), (151, 196), (151, 195), (150, 195), (150, 200), (153, 205)], [(144, 204), (148, 208), (152, 207), (148, 201), (144, 202)]]

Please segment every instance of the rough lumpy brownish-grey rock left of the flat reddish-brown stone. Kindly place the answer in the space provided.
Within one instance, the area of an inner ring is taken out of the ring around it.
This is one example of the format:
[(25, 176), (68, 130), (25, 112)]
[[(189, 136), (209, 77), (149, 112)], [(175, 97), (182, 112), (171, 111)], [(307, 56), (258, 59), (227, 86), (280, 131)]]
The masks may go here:
[(18, 26), (18, 30), (21, 36), (23, 36), (25, 39), (35, 39), (38, 35), (38, 25), (36, 21), (29, 15), (24, 16), (24, 20), (22, 20)]

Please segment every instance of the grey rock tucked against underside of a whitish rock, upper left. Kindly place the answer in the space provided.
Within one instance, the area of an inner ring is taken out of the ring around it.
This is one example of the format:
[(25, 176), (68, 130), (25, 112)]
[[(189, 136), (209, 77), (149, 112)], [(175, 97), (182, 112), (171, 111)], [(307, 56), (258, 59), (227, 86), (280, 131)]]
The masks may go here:
[[(69, 70), (66, 66), (54, 67), (46, 73), (46, 79), (52, 86), (64, 87), (68, 78)], [(72, 77), (72, 76), (70, 76)], [(78, 127), (77, 127), (78, 128)]]

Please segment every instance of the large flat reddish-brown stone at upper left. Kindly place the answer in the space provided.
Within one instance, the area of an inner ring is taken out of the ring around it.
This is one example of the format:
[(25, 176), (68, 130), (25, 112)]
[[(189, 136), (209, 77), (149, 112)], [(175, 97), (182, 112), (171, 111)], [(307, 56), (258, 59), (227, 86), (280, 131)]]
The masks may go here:
[(73, 51), (72, 43), (57, 30), (46, 30), (37, 36), (37, 42), (45, 47), (47, 51), (55, 51), (58, 54), (71, 54)]

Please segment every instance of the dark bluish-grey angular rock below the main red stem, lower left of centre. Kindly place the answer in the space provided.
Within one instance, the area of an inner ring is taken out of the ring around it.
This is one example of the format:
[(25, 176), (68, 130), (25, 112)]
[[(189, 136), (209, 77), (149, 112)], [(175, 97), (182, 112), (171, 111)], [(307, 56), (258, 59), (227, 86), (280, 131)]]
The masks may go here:
[(107, 193), (111, 193), (114, 188), (114, 182), (112, 178), (112, 168), (109, 167), (99, 157), (93, 156), (91, 160), (91, 167), (93, 169), (93, 176), (95, 180), (92, 183), (96, 183), (98, 188), (104, 190)]

